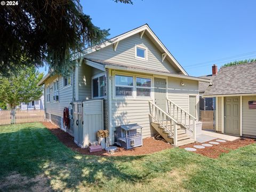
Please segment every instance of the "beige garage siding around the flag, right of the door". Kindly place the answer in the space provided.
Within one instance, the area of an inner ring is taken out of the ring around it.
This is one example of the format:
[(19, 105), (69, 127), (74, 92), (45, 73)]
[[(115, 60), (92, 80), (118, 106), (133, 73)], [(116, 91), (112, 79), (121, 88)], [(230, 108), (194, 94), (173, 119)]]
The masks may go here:
[(243, 97), (243, 134), (256, 136), (256, 109), (249, 109), (248, 101), (256, 101), (256, 96)]

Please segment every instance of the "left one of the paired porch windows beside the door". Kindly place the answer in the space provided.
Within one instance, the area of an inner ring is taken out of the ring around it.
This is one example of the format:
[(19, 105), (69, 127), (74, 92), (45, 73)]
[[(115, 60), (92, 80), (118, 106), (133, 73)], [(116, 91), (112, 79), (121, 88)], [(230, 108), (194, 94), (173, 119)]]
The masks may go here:
[(115, 97), (133, 97), (133, 76), (115, 75)]

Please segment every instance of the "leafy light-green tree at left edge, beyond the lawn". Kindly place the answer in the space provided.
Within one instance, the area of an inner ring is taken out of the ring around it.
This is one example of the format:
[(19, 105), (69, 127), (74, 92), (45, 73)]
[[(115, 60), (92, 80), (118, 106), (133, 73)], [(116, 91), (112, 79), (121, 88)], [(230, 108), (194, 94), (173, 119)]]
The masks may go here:
[(26, 67), (17, 74), (0, 77), (0, 101), (13, 109), (21, 102), (38, 100), (43, 95), (42, 87), (37, 86), (42, 78), (43, 73), (36, 71), (35, 67)]

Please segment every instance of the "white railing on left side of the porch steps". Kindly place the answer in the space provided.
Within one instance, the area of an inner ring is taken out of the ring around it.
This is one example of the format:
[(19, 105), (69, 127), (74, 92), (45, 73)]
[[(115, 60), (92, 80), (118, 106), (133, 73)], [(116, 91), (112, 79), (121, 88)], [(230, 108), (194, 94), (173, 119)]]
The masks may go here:
[(177, 124), (178, 122), (164, 110), (159, 108), (155, 103), (149, 101), (149, 116), (153, 118), (159, 125), (164, 127), (170, 135), (173, 136), (173, 145), (178, 145)]

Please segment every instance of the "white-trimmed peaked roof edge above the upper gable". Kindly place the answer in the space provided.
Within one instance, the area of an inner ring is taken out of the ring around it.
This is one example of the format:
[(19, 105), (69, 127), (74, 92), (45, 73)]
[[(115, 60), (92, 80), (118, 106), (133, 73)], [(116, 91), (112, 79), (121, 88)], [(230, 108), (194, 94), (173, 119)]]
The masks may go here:
[(160, 39), (155, 35), (155, 33), (150, 29), (150, 27), (148, 26), (148, 24), (142, 25), (140, 27), (137, 27), (135, 29), (132, 29), (130, 31), (127, 31), (124, 34), (118, 35), (116, 37), (113, 37), (111, 39), (109, 39), (106, 42), (101, 43), (100, 45), (97, 46), (93, 46), (93, 47), (89, 47), (87, 49), (84, 50), (84, 53), (76, 53), (74, 54), (73, 59), (78, 59), (81, 57), (85, 57), (86, 54), (90, 54), (92, 52), (98, 51), (100, 49), (102, 49), (103, 47), (112, 45), (114, 43), (117, 43), (127, 37), (130, 37), (134, 34), (138, 34), (140, 33), (141, 36), (143, 36), (143, 34), (147, 34), (147, 36), (151, 39), (151, 41), (153, 41), (153, 43), (158, 47), (158, 49), (163, 53), (166, 54), (166, 57), (170, 58), (174, 65), (181, 71), (181, 73), (183, 75), (188, 75), (188, 73), (185, 71), (185, 69), (183, 69), (181, 67), (181, 65), (179, 64), (179, 62), (173, 57), (173, 55), (169, 52), (169, 50), (167, 50), (167, 48), (164, 46), (164, 44), (160, 41)]

